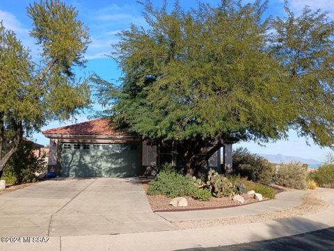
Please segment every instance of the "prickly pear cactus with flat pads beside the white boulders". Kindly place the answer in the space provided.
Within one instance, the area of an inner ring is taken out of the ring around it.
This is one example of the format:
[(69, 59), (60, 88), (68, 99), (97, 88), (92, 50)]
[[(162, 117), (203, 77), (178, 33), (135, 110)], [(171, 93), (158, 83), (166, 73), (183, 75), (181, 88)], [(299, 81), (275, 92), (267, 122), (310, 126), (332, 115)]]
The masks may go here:
[(210, 186), (214, 197), (234, 195), (234, 186), (231, 181), (223, 175), (219, 175), (215, 170), (209, 170), (207, 185)]

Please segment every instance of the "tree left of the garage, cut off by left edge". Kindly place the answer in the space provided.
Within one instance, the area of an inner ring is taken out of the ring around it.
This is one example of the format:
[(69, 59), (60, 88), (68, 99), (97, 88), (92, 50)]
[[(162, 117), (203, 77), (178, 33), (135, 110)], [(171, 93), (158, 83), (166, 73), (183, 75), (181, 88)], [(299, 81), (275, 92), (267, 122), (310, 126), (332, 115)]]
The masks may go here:
[(77, 81), (73, 72), (84, 66), (89, 42), (77, 10), (47, 0), (33, 3), (27, 12), (33, 20), (30, 35), (40, 45), (39, 62), (0, 23), (0, 173), (24, 133), (39, 130), (48, 120), (68, 119), (90, 102), (88, 84)]

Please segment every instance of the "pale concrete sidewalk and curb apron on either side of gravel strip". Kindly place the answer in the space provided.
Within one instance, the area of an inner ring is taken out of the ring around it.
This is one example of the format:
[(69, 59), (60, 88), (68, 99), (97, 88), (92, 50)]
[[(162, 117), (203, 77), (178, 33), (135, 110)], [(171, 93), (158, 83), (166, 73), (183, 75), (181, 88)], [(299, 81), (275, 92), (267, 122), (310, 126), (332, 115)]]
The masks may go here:
[[(61, 236), (52, 237), (49, 243), (0, 243), (0, 250), (178, 250), (185, 248), (205, 248), (218, 245), (232, 245), (250, 241), (302, 234), (334, 226), (334, 190), (319, 189), (321, 199), (328, 207), (317, 213), (238, 225), (225, 225), (199, 229), (183, 229), (164, 232), (141, 232), (116, 235)], [(188, 211), (164, 213), (166, 218), (186, 219), (209, 218), (215, 216), (237, 216), (238, 213), (262, 213), (270, 210), (286, 209), (301, 203), (300, 197), (312, 191), (294, 191), (278, 195), (278, 200), (250, 204), (234, 209), (214, 209), (209, 211)], [(161, 215), (161, 213), (159, 213)]]

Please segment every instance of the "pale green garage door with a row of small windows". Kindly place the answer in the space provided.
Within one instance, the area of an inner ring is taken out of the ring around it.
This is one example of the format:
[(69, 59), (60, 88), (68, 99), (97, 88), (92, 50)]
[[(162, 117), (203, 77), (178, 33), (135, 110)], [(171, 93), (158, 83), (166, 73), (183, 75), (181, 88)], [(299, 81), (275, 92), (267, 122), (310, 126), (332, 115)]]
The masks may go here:
[(141, 169), (139, 145), (63, 143), (63, 177), (135, 177)]

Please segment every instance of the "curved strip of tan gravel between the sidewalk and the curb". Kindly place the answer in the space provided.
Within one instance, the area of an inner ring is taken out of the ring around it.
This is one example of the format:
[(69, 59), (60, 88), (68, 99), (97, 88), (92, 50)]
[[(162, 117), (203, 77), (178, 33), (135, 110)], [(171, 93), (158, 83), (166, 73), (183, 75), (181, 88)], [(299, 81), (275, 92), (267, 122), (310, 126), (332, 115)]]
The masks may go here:
[(319, 197), (326, 192), (317, 192), (312, 194), (303, 195), (301, 197), (301, 204), (290, 209), (284, 209), (280, 211), (273, 211), (271, 213), (260, 213), (258, 215), (230, 217), (230, 218), (216, 218), (209, 220), (175, 220), (171, 221), (175, 227), (179, 229), (200, 228), (200, 227), (213, 227), (219, 225), (234, 225), (242, 223), (262, 222), (267, 220), (279, 220), (283, 218), (292, 218), (296, 216), (305, 215), (308, 213), (315, 213), (328, 207), (328, 204), (324, 200), (320, 200)]

